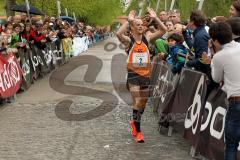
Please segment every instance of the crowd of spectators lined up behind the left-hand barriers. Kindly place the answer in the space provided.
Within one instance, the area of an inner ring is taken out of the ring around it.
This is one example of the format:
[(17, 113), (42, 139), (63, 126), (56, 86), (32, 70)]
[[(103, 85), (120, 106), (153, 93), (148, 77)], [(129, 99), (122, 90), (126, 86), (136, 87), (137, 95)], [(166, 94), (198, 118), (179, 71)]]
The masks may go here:
[(18, 48), (34, 44), (43, 49), (47, 42), (59, 43), (64, 38), (87, 37), (90, 44), (104, 39), (106, 29), (87, 26), (82, 22), (69, 23), (56, 17), (35, 16), (29, 19), (25, 13), (8, 17), (0, 26), (1, 50), (17, 53)]

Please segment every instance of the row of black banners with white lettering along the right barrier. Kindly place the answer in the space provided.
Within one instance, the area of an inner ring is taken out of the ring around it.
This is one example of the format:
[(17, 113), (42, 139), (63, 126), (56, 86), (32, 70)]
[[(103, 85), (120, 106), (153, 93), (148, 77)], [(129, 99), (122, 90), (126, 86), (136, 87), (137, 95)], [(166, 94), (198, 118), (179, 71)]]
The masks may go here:
[[(161, 97), (164, 78), (159, 77), (168, 77), (166, 75), (167, 69), (161, 68), (155, 83), (154, 96)], [(170, 79), (165, 78), (164, 82), (168, 80)], [(161, 102), (164, 101), (157, 99), (158, 111), (161, 110), (168, 117), (170, 115), (171, 122), (184, 127), (184, 137), (191, 141), (198, 153), (211, 160), (223, 160), (226, 94), (220, 88), (215, 89), (206, 102), (206, 81), (204, 74), (184, 68), (168, 105), (162, 109)], [(240, 146), (238, 150), (240, 160)]]

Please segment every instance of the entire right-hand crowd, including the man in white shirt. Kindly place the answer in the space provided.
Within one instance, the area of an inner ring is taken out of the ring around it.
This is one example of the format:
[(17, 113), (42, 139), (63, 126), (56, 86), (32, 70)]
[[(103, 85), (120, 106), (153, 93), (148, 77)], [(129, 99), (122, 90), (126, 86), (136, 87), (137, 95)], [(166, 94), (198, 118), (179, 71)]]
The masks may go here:
[[(150, 42), (152, 60), (170, 66), (173, 75), (180, 74), (183, 67), (206, 74), (206, 101), (213, 89), (222, 87), (229, 102), (225, 122), (225, 160), (236, 160), (240, 141), (240, 1), (233, 0), (229, 17), (207, 18), (199, 10), (191, 12), (187, 23), (183, 23), (180, 17), (178, 10), (160, 12), (159, 18), (167, 32)], [(153, 33), (159, 27), (148, 13), (142, 21), (145, 34)]]

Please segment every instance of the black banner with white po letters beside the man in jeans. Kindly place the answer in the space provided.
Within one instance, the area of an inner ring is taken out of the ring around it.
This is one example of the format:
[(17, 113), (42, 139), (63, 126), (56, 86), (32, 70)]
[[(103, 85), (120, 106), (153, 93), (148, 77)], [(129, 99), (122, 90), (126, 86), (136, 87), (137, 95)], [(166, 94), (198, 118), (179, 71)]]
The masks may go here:
[[(227, 112), (226, 94), (220, 89), (211, 92), (205, 105), (197, 151), (209, 159), (224, 160), (224, 127)], [(238, 152), (240, 160), (240, 146)]]

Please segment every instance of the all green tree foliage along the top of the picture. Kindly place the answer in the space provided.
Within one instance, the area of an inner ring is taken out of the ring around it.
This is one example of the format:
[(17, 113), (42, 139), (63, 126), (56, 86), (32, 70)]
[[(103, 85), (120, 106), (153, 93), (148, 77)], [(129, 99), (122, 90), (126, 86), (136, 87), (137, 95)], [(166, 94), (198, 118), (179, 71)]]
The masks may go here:
[[(0, 15), (5, 15), (4, 3), (0, 0)], [(16, 0), (17, 3), (24, 3), (25, 0)], [(29, 0), (33, 6), (38, 7), (44, 13), (50, 16), (56, 16), (57, 7), (56, 0)], [(126, 11), (126, 15), (131, 10), (139, 10), (138, 3), (141, 0), (132, 0), (130, 7)], [(148, 6), (148, 0), (144, 0), (143, 14)], [(151, 7), (156, 9), (158, 0), (151, 0)], [(170, 8), (172, 0), (167, 0), (167, 9)], [(232, 0), (205, 0), (203, 11), (208, 17), (223, 15), (228, 17), (228, 11)], [(192, 10), (197, 8), (196, 0), (176, 0), (174, 8), (181, 12), (182, 20), (187, 20)], [(96, 25), (111, 24), (113, 19), (122, 15), (122, 7), (120, 0), (61, 0), (62, 15), (65, 15), (64, 8), (68, 9), (68, 13), (72, 16), (75, 12), (76, 17), (84, 22)], [(164, 10), (165, 0), (160, 2), (160, 10)], [(159, 11), (158, 11), (159, 12)]]

